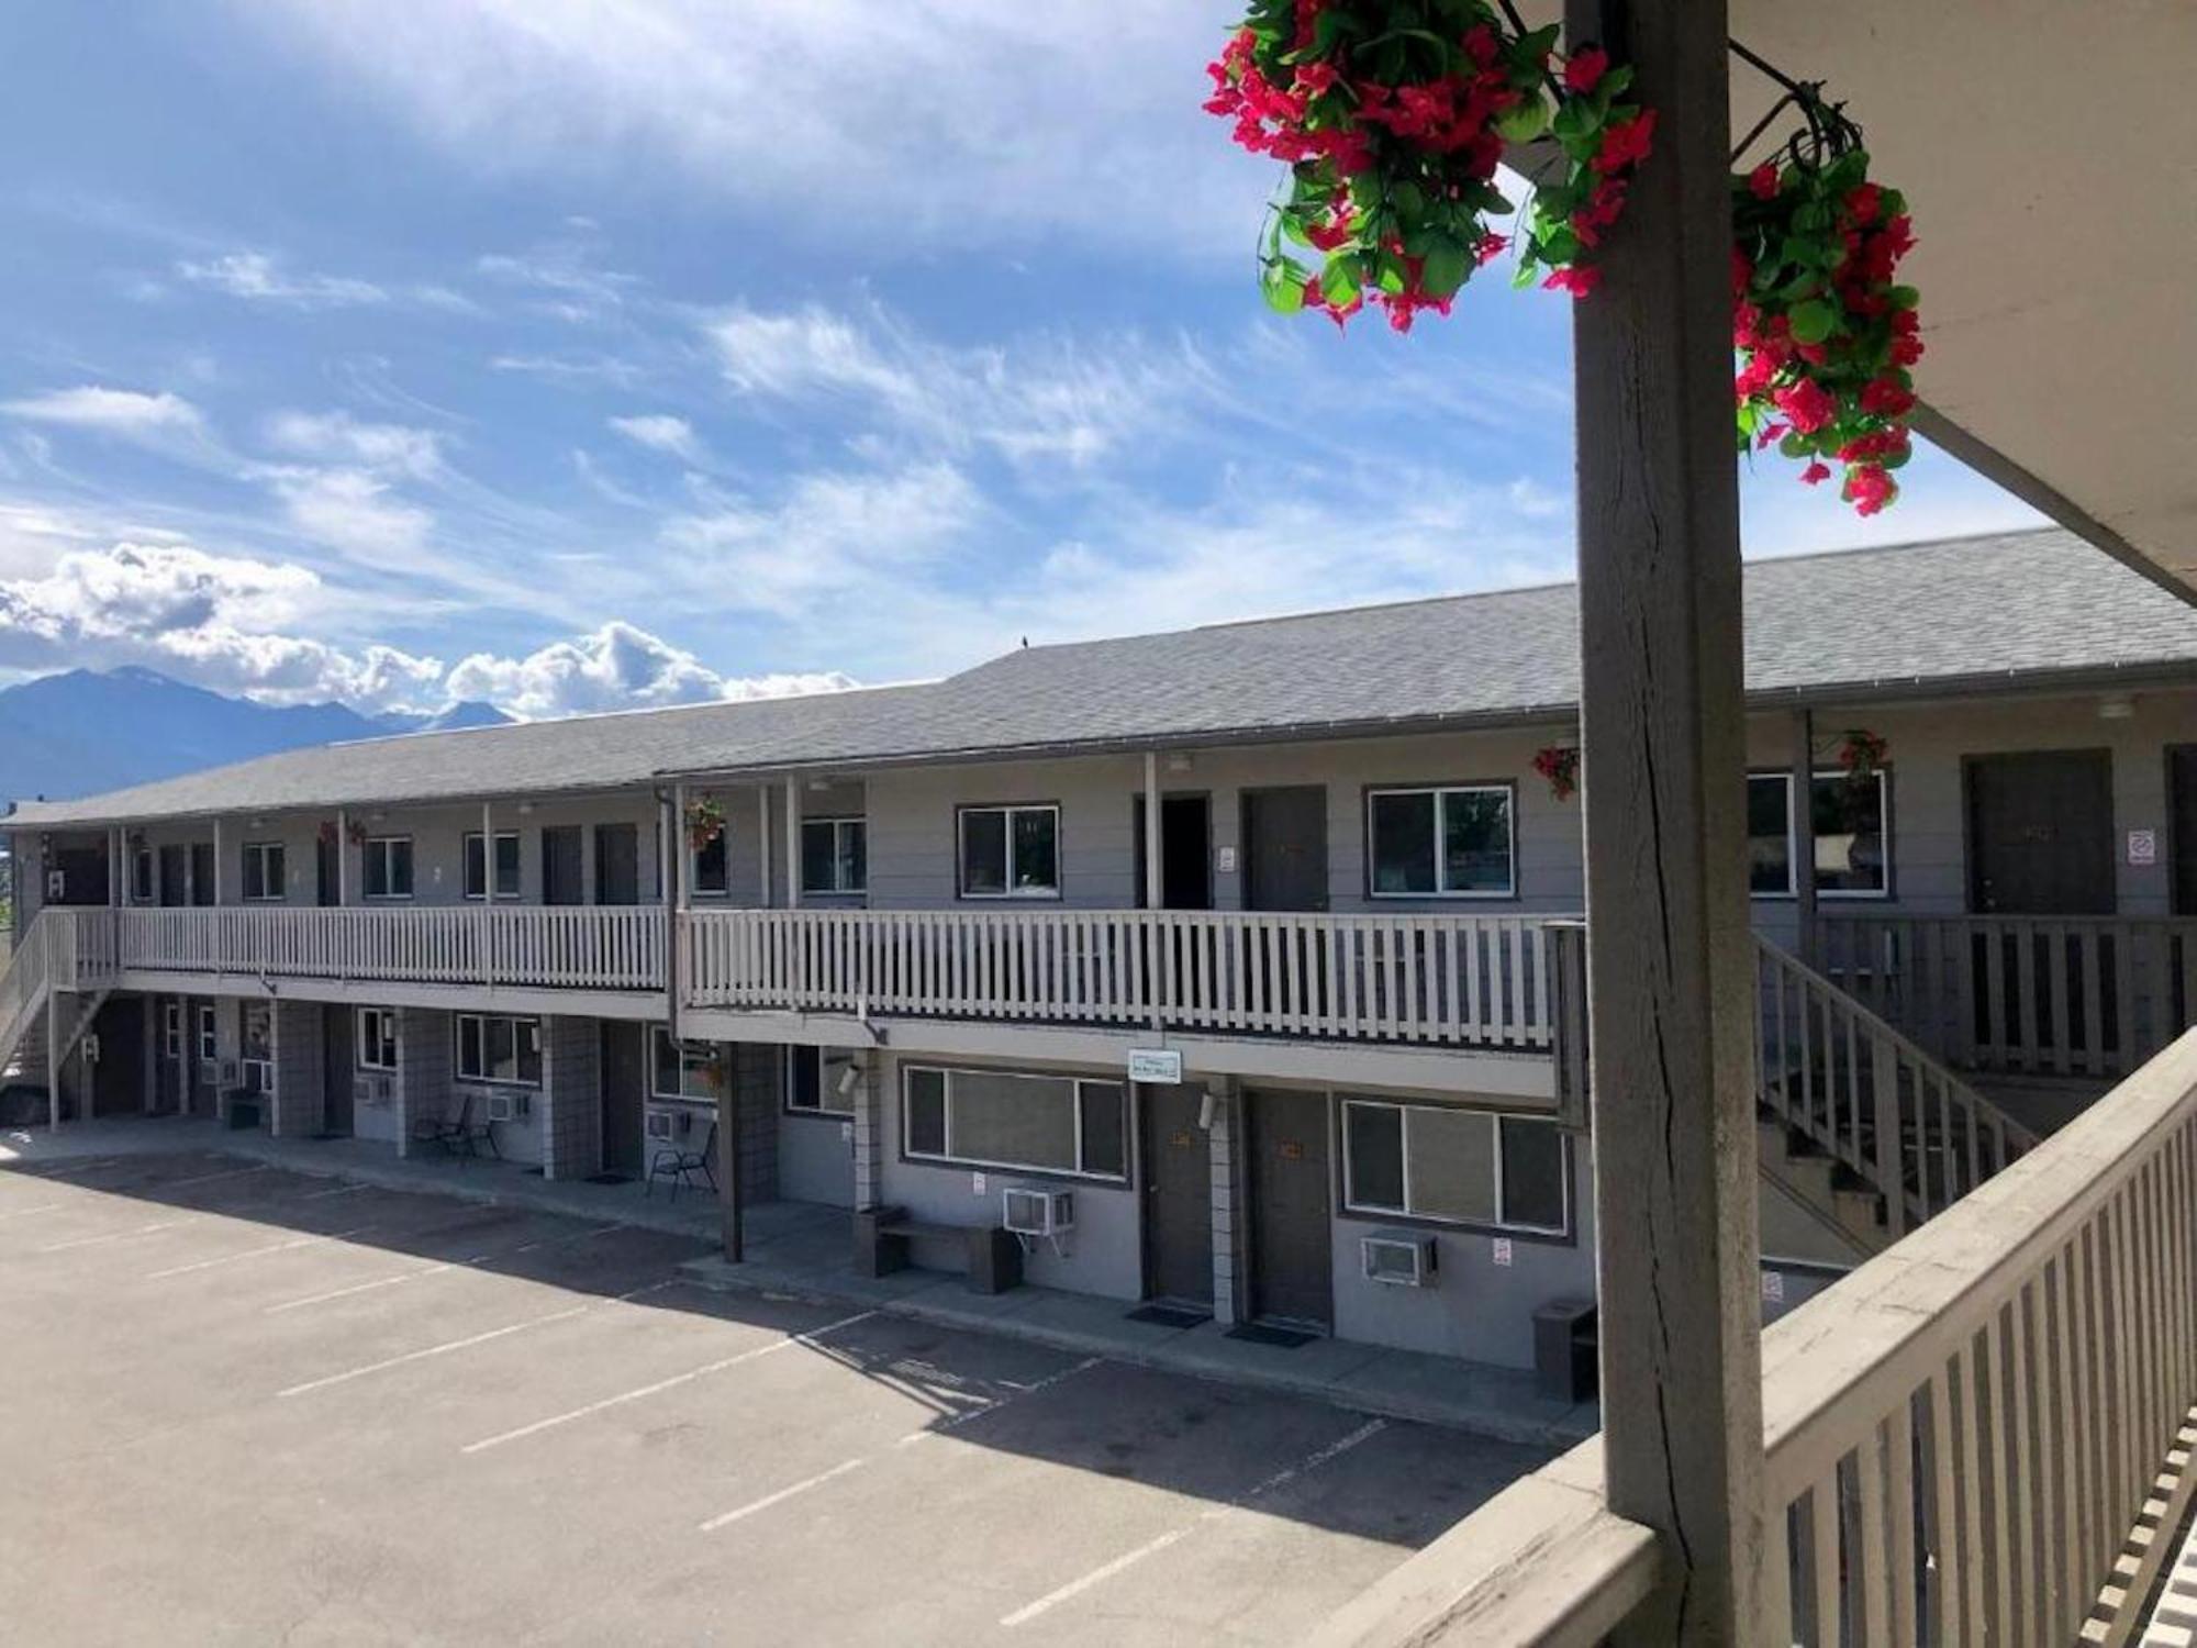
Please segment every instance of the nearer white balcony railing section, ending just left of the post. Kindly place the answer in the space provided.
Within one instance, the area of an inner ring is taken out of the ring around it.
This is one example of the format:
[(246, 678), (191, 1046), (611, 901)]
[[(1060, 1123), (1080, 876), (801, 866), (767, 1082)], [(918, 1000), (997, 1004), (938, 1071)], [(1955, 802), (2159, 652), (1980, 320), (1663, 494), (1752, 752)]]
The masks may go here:
[(690, 1009), (1542, 1050), (1540, 916), (723, 910), (681, 916)]

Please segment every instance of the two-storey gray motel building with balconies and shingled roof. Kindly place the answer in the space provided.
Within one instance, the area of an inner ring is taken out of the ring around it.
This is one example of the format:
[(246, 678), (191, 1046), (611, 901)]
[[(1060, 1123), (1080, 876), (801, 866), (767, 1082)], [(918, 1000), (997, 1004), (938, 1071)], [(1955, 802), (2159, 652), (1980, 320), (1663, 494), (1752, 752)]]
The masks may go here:
[[(2061, 532), (1744, 602), (1775, 1316), (2197, 1020), (2197, 615)], [(635, 1198), (688, 1154), (863, 1272), (1562, 1382), (1577, 650), (1523, 589), (20, 806), (0, 1096)]]

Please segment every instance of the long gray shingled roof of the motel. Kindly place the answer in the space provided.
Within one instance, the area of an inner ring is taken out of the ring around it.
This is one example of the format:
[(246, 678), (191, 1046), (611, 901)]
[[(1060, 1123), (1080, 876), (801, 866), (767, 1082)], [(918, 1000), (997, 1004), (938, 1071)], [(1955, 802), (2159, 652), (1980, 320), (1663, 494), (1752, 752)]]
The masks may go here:
[[(1571, 584), (1035, 646), (945, 681), (808, 699), (536, 721), (299, 749), (15, 822), (132, 822), (613, 789), (666, 773), (1167, 741), (1371, 732), (1569, 712)], [(1747, 567), (1758, 697), (1942, 692), (2052, 677), (2197, 681), (2197, 611), (2065, 532), (1854, 549)]]

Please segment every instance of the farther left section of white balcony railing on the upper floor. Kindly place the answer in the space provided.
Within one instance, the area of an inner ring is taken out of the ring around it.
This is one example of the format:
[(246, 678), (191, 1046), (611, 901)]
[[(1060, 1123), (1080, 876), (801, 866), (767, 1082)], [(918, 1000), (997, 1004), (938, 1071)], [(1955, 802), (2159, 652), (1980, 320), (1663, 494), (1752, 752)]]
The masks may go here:
[(70, 914), (77, 951), (123, 973), (663, 989), (663, 912), (648, 905)]

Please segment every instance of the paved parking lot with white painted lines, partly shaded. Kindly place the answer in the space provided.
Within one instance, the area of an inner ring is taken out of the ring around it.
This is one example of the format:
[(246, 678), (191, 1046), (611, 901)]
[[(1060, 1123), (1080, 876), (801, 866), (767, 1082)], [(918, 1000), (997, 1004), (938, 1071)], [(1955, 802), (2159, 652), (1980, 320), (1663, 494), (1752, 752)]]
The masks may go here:
[(178, 1151), (0, 1171), (59, 1641), (1287, 1641), (1540, 1455)]

